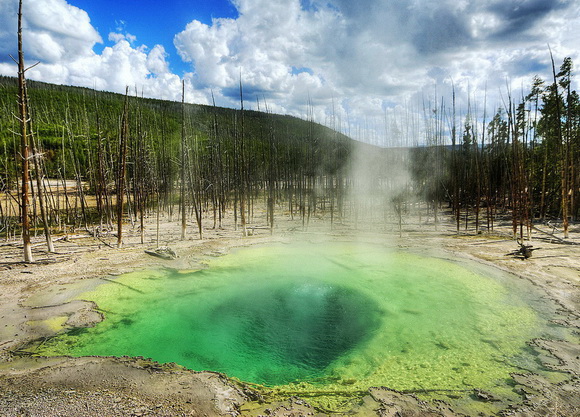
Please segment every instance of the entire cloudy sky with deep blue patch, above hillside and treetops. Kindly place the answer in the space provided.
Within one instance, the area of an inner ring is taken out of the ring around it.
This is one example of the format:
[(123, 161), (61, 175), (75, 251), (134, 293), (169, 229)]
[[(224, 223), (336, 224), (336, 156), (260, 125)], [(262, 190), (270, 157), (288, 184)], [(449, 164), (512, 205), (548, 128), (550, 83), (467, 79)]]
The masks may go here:
[[(18, 0), (0, 0), (0, 74), (16, 75)], [(359, 139), (418, 141), (423, 107), (488, 114), (580, 62), (578, 0), (24, 0), (29, 78), (306, 117)], [(577, 88), (577, 79), (574, 88)], [(478, 108), (479, 113), (483, 109)], [(411, 123), (417, 125), (417, 123)], [(386, 132), (386, 133), (385, 133)]]

